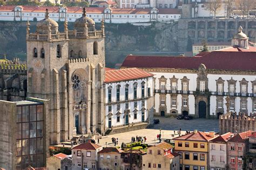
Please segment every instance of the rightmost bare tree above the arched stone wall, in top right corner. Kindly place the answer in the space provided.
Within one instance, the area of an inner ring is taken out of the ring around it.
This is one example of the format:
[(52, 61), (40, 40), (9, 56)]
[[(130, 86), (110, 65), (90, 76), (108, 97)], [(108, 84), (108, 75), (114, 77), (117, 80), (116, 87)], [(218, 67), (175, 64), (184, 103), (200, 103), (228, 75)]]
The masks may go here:
[(242, 17), (249, 14), (249, 11), (253, 9), (255, 2), (253, 0), (235, 0), (235, 6), (238, 10), (241, 10)]

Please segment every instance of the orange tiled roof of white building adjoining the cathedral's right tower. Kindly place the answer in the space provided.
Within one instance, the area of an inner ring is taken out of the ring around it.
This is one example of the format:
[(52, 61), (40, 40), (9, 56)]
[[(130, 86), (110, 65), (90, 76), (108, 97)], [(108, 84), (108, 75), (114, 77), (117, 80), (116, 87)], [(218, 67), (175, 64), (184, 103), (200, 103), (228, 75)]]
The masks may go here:
[(151, 77), (153, 74), (138, 68), (115, 69), (105, 72), (105, 82), (118, 82), (125, 80), (142, 79)]

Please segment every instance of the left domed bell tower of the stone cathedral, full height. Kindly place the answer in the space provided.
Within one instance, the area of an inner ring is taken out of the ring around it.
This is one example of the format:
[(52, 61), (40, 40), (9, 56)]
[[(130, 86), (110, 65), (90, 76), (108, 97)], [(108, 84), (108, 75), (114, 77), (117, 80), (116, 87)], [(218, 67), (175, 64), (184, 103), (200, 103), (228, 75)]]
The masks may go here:
[(49, 99), (49, 125), (46, 136), (50, 144), (58, 144), (68, 139), (68, 101), (66, 89), (66, 63), (68, 62), (68, 23), (65, 31), (58, 31), (58, 23), (49, 18), (48, 9), (45, 18), (36, 24), (36, 32), (30, 33), (30, 24), (26, 29), (26, 48), (28, 63), (28, 96)]

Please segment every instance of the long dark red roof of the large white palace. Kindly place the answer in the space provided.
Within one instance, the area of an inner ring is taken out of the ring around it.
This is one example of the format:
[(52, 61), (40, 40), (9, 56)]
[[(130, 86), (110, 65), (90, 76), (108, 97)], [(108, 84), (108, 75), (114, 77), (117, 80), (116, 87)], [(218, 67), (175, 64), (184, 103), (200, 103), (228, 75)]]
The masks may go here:
[(256, 50), (255, 52), (213, 51), (193, 57), (127, 55), (121, 67), (198, 69), (200, 63), (203, 63), (207, 69), (255, 71)]

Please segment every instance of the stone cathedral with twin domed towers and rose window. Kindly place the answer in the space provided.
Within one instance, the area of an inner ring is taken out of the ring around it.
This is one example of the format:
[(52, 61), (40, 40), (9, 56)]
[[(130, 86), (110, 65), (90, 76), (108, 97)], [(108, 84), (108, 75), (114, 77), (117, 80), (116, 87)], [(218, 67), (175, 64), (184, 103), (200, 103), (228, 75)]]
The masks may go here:
[(104, 131), (104, 21), (97, 31), (83, 9), (74, 30), (58, 30), (49, 18), (37, 22), (35, 33), (27, 23), (28, 97), (50, 100), (49, 143), (71, 139), (77, 134)]

